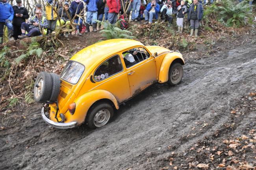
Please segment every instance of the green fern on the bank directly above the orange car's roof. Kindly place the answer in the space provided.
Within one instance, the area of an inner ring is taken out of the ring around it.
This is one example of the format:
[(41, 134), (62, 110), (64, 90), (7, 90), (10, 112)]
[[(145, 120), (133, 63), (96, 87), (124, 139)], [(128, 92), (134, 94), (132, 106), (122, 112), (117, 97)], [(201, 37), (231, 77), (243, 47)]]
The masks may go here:
[(115, 25), (110, 24), (108, 21), (102, 21), (102, 25), (104, 26), (104, 29), (100, 31), (103, 37), (106, 39), (133, 39), (135, 38), (132, 36), (131, 31), (127, 30), (121, 30), (118, 28), (118, 24), (120, 21), (118, 21)]

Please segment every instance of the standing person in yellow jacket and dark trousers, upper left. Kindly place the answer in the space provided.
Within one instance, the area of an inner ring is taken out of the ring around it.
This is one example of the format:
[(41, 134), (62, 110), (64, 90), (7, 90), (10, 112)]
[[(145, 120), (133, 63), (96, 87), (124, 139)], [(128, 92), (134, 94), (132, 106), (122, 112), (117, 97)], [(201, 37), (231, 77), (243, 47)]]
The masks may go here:
[(54, 11), (54, 9), (57, 11), (58, 5), (54, 5), (53, 0), (46, 0), (45, 1), (45, 11), (46, 11), (46, 19), (48, 21), (48, 28), (47, 28), (47, 34), (52, 33), (52, 31), (56, 28), (56, 22), (57, 22), (57, 13)]

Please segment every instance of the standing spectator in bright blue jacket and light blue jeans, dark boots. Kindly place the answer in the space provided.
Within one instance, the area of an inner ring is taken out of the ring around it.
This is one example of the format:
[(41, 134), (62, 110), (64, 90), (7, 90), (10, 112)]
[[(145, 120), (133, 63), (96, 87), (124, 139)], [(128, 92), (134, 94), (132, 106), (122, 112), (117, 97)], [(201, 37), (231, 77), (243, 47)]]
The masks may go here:
[(98, 18), (98, 6), (100, 6), (99, 0), (83, 0), (87, 4), (86, 15), (86, 30), (85, 33), (89, 32), (89, 26), (93, 26), (93, 32), (97, 32), (97, 18)]

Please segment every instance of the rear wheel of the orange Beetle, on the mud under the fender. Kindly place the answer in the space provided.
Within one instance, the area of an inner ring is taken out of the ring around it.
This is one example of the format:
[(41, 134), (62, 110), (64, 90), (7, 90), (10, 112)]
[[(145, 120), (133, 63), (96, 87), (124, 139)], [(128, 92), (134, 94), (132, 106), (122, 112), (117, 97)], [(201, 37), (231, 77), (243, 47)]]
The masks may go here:
[(86, 116), (86, 124), (91, 129), (102, 127), (108, 123), (113, 113), (113, 107), (109, 103), (97, 103), (89, 109)]

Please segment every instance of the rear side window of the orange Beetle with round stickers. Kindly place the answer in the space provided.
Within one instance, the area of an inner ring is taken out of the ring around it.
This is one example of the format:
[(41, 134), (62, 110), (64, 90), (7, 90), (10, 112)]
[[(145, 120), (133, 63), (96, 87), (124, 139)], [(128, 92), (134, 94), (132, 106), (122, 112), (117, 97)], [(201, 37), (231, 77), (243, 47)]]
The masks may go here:
[(104, 61), (94, 72), (95, 81), (102, 81), (110, 76), (122, 72), (123, 67), (119, 55), (115, 55)]

